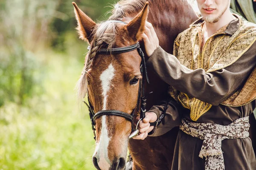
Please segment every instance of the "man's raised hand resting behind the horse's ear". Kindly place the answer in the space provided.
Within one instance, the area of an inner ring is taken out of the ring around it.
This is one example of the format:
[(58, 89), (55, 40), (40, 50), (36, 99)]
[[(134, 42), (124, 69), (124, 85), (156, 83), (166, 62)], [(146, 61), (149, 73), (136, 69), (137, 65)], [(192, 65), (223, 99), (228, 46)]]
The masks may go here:
[(145, 33), (142, 34), (142, 37), (145, 44), (146, 54), (148, 55), (148, 57), (150, 57), (155, 49), (157, 49), (157, 47), (159, 46), (159, 40), (152, 24), (148, 21), (146, 21)]

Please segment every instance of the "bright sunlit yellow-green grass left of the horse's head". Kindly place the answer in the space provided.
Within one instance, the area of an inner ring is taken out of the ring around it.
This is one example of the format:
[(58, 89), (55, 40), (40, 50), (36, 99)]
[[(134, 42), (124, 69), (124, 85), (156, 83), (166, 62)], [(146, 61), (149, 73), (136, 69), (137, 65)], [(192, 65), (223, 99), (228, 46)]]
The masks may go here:
[(5, 102), (0, 108), (0, 170), (92, 170), (90, 119), (73, 90), (83, 63), (44, 55), (44, 93), (26, 105)]

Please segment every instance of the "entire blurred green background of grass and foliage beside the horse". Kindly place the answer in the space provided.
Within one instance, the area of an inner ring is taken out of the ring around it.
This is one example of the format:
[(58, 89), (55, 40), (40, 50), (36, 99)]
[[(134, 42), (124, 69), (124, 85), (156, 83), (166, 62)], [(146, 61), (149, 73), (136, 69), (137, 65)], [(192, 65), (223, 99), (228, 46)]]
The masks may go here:
[[(113, 0), (75, 2), (97, 21)], [(0, 170), (93, 169), (90, 119), (73, 90), (87, 43), (72, 0), (1, 0), (0, 9)]]

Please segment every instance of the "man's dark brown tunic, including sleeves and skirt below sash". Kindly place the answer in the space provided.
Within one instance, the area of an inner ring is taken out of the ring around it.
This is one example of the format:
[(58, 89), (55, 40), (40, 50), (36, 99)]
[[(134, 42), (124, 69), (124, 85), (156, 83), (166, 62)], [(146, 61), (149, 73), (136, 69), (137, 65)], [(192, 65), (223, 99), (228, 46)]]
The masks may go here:
[[(236, 22), (233, 24), (237, 25)], [(230, 26), (232, 29), (234, 27), (236, 26)], [(166, 53), (161, 47), (154, 51), (147, 65), (148, 69), (153, 69), (159, 77), (178, 91), (212, 105), (196, 122), (229, 125), (236, 119), (249, 116), (256, 108), (256, 100), (239, 107), (220, 105), (244, 85), (255, 69), (256, 42), (232, 65), (208, 73), (203, 68), (192, 70), (181, 65), (175, 56)], [(163, 108), (164, 101), (153, 106), (150, 111), (160, 116)], [(165, 125), (155, 127), (150, 136), (160, 136), (179, 126), (182, 117), (191, 120), (190, 110), (171, 99)], [(202, 142), (201, 139), (180, 130), (172, 170), (204, 170), (204, 159), (198, 157)], [(250, 138), (225, 139), (222, 141), (221, 149), (226, 170), (256, 170), (256, 158)]]

